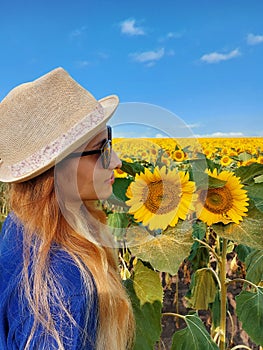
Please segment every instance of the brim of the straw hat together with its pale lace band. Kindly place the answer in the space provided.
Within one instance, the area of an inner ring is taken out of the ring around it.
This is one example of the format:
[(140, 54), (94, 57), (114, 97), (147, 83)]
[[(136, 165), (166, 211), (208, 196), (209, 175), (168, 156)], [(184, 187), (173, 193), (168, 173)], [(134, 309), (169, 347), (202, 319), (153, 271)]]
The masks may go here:
[(83, 116), (74, 127), (55, 140), (51, 145), (38, 150), (27, 159), (12, 166), (0, 160), (0, 181), (23, 182), (30, 180), (55, 166), (58, 161), (91, 140), (111, 118), (119, 104), (116, 95), (98, 100), (100, 106), (88, 115)]

